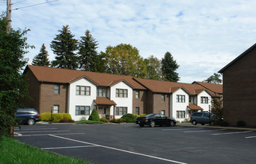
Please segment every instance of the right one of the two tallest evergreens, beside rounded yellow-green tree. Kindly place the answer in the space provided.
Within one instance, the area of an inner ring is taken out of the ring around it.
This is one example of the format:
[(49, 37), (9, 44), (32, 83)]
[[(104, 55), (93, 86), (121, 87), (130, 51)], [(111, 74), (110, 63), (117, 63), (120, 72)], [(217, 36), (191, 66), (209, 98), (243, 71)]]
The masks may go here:
[(92, 37), (90, 31), (85, 31), (85, 37), (81, 37), (79, 42), (79, 69), (97, 72), (97, 41)]

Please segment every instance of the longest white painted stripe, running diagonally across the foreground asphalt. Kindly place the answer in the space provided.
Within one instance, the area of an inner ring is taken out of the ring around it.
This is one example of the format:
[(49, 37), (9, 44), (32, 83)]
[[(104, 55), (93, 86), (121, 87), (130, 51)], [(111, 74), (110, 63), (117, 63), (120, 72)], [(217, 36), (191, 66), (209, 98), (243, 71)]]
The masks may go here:
[(112, 147), (109, 147), (109, 146), (97, 145), (97, 144), (94, 144), (94, 143), (83, 142), (83, 141), (79, 141), (79, 140), (76, 140), (76, 139), (69, 139), (69, 138), (65, 138), (65, 137), (62, 137), (62, 136), (55, 136), (55, 135), (52, 135), (52, 134), (49, 134), (49, 136), (57, 137), (57, 138), (60, 138), (60, 139), (66, 139), (66, 140), (70, 140), (70, 141), (73, 141), (73, 142), (85, 143), (85, 144), (88, 144), (88, 145), (95, 145), (95, 146), (98, 146), (98, 147), (101, 147), (101, 148), (108, 148), (108, 149), (112, 149), (112, 150), (115, 150), (115, 151), (122, 151), (122, 152), (129, 153), (129, 154), (135, 154), (135, 155), (139, 155), (139, 156), (150, 157), (150, 158), (157, 159), (157, 160), (164, 160), (164, 161), (167, 161), (167, 162), (170, 162), (170, 163), (186, 164), (186, 163), (181, 163), (181, 162), (178, 162), (178, 161), (175, 161), (175, 160), (168, 160), (168, 159), (165, 159), (165, 158), (154, 157), (154, 156), (150, 156), (150, 155), (147, 155), (147, 154), (140, 154), (140, 153), (135, 153), (135, 152), (132, 152), (132, 151), (125, 151), (125, 150), (122, 150), (122, 149), (119, 149), (119, 148), (112, 148)]

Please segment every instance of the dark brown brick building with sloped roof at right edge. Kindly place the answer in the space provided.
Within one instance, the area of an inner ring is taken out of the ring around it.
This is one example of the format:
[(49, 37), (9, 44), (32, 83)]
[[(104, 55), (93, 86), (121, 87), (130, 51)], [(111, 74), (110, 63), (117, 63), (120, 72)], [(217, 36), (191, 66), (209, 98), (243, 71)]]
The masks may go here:
[(256, 126), (256, 44), (219, 71), (223, 75), (224, 120)]

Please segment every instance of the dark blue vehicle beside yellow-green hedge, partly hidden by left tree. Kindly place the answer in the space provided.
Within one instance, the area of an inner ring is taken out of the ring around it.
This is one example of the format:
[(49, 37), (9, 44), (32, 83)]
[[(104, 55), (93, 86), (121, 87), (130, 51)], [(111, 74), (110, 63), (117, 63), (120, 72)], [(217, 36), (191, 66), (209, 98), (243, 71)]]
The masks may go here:
[(21, 119), (23, 124), (32, 125), (40, 121), (39, 114), (34, 108), (18, 108), (15, 116)]

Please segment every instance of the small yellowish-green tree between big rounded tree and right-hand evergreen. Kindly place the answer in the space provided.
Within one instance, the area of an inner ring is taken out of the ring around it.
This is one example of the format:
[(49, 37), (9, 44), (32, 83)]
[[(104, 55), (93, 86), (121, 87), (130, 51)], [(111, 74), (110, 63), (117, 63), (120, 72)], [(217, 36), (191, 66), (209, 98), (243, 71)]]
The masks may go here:
[(157, 59), (157, 57), (153, 57), (153, 55), (151, 55), (144, 59), (144, 63), (147, 69), (147, 77), (145, 78), (158, 81), (162, 80), (162, 63)]

